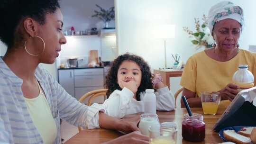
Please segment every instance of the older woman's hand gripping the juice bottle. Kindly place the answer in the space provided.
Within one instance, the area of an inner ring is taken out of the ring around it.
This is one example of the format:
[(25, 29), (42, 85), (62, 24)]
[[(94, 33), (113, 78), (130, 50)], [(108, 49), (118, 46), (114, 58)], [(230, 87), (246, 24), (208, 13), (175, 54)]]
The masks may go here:
[(239, 92), (238, 88), (238, 85), (234, 83), (229, 83), (225, 88), (219, 90), (221, 100), (229, 99), (230, 101), (232, 101), (233, 99), (235, 99), (236, 95)]

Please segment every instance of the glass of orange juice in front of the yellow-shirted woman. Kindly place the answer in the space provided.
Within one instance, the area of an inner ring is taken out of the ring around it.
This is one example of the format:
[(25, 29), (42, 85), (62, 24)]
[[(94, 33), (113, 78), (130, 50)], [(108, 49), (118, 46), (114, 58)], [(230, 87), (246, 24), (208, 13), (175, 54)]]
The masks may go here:
[(219, 92), (201, 91), (201, 102), (204, 114), (216, 115), (220, 103)]

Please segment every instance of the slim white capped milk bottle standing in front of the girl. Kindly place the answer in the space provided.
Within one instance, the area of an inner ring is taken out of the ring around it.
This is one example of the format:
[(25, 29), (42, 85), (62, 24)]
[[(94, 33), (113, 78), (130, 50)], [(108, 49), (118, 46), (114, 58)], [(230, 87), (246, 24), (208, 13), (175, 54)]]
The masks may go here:
[(156, 114), (156, 98), (154, 89), (146, 89), (144, 97), (144, 113)]

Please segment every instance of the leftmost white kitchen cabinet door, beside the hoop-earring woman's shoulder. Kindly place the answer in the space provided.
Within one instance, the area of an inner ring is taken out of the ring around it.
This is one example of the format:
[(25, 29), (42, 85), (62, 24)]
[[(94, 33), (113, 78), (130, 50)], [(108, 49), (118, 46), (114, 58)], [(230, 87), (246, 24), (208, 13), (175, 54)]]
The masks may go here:
[(59, 84), (73, 97), (74, 93), (74, 70), (58, 70)]

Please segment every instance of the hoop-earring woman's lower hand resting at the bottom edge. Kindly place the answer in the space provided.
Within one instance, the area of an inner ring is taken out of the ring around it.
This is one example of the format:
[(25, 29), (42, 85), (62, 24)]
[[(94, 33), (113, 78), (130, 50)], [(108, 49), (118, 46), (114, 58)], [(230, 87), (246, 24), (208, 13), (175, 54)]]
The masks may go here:
[(149, 144), (149, 137), (142, 135), (139, 131), (135, 131), (104, 144)]

